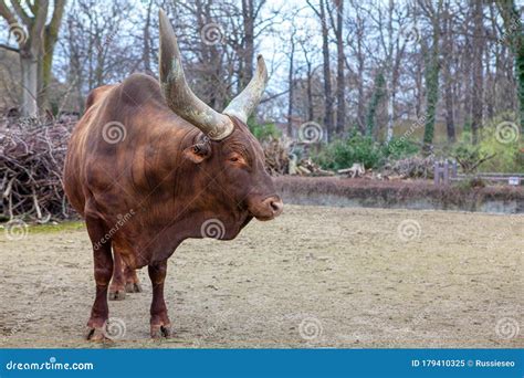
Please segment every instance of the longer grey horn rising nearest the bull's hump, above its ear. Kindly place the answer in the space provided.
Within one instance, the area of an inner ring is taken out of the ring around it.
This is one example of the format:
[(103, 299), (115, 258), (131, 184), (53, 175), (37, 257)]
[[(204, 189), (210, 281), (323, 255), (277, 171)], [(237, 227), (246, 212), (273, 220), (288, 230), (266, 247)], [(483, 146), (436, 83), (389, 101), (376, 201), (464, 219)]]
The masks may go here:
[(189, 87), (184, 74), (177, 36), (166, 13), (160, 19), (160, 86), (168, 106), (197, 126), (210, 139), (220, 140), (233, 132), (232, 120), (206, 105)]

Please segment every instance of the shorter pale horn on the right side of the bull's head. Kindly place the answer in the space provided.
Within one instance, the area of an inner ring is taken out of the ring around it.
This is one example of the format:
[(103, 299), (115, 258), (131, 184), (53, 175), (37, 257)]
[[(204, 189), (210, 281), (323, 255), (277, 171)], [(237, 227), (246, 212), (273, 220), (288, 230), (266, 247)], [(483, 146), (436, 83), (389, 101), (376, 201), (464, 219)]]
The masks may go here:
[(254, 111), (256, 105), (259, 105), (266, 83), (268, 70), (263, 56), (259, 54), (259, 56), (256, 56), (256, 72), (253, 78), (251, 78), (248, 86), (231, 101), (222, 113), (235, 116), (245, 124), (250, 114)]

